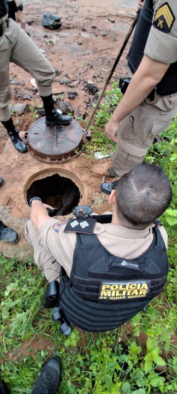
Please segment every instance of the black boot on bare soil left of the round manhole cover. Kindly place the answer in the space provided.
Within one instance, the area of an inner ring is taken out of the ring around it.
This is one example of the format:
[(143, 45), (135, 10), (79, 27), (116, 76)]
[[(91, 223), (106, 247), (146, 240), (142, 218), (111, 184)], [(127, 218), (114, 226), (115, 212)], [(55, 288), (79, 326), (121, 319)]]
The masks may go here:
[(9, 137), (10, 137), (15, 149), (21, 153), (27, 152), (27, 146), (24, 143), (24, 141), (22, 141), (22, 139), (20, 138), (19, 132), (15, 128), (12, 118), (10, 118), (7, 122), (1, 121), (1, 123), (6, 128), (7, 133), (9, 134)]

